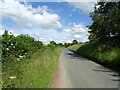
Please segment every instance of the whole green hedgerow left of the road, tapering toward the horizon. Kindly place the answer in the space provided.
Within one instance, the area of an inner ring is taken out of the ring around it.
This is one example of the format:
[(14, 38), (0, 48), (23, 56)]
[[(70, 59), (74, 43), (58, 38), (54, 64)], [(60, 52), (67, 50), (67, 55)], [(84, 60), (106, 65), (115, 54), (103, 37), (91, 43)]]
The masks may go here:
[(46, 48), (54, 49), (56, 47), (63, 47), (62, 43), (56, 44), (51, 41), (50, 44), (44, 45), (41, 41), (36, 41), (29, 35), (14, 36), (12, 33), (8, 34), (5, 30), (1, 36), (2, 46), (2, 62), (8, 60), (19, 60), (23, 58), (30, 58), (31, 54), (39, 50), (45, 50)]

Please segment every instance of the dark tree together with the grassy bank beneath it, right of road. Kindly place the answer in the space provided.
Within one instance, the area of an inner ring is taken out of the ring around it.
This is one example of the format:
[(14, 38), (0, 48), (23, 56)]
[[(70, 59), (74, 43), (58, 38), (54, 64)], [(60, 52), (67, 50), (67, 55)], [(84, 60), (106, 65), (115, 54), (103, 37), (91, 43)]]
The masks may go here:
[(120, 71), (120, 2), (99, 2), (90, 15), (89, 42), (69, 49)]

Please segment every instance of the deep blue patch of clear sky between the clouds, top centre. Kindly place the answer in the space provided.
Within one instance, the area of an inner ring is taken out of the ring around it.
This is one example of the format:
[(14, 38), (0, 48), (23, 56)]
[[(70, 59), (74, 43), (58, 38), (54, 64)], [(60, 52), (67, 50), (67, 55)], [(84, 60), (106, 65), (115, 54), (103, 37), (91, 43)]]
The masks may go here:
[(82, 23), (85, 26), (91, 23), (89, 13), (83, 13), (80, 9), (74, 8), (67, 2), (28, 2), (34, 8), (38, 6), (48, 6), (61, 17), (61, 23), (66, 26), (69, 23), (75, 22), (76, 24)]

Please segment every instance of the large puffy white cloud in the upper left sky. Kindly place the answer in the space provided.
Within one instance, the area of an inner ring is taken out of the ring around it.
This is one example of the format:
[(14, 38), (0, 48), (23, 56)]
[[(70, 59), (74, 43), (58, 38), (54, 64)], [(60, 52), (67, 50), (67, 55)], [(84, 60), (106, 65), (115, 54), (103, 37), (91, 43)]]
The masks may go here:
[(2, 19), (12, 19), (19, 27), (38, 26), (43, 29), (58, 29), (62, 25), (60, 17), (50, 13), (47, 6), (33, 8), (31, 5), (23, 5), (15, 0), (4, 0), (0, 3), (0, 16)]

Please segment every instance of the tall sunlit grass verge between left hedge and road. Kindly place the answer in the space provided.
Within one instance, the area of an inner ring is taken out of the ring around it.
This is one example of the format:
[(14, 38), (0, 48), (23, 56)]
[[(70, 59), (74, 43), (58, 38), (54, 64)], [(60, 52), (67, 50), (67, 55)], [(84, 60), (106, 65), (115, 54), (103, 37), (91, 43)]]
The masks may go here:
[(58, 64), (62, 47), (46, 48), (29, 59), (7, 61), (3, 66), (3, 88), (47, 88)]

